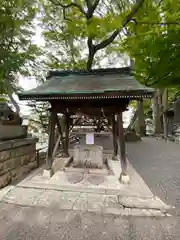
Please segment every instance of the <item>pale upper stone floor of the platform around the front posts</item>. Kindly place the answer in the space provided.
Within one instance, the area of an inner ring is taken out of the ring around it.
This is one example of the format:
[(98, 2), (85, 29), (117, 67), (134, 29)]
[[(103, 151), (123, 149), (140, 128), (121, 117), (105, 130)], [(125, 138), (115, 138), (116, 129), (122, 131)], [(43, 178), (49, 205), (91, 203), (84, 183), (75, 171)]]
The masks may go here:
[[(100, 176), (98, 174), (84, 174), (83, 179), (80, 179), (81, 181), (77, 181), (73, 184), (68, 181), (69, 173), (58, 171), (52, 176), (52, 178), (47, 179), (42, 175), (43, 170), (39, 170), (37, 174), (32, 173), (32, 177), (28, 176), (27, 179), (21, 181), (18, 186), (56, 189), (62, 191), (94, 192), (110, 195), (122, 194), (125, 196), (153, 197), (152, 192), (136, 173), (131, 164), (128, 164), (128, 171), (131, 178), (129, 185), (123, 185), (119, 182), (119, 176), (121, 173), (120, 163), (118, 161), (109, 161), (109, 164), (114, 171), (114, 175)], [(91, 176), (94, 176), (94, 178), (97, 176), (98, 178), (103, 179), (90, 181)]]

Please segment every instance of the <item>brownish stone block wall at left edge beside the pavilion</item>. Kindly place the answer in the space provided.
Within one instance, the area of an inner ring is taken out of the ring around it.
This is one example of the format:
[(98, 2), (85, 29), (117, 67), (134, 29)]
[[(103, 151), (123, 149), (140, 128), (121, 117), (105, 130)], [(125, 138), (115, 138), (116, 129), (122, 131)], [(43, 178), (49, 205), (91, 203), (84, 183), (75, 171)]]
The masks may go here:
[(36, 167), (36, 139), (0, 142), (0, 188), (21, 179)]

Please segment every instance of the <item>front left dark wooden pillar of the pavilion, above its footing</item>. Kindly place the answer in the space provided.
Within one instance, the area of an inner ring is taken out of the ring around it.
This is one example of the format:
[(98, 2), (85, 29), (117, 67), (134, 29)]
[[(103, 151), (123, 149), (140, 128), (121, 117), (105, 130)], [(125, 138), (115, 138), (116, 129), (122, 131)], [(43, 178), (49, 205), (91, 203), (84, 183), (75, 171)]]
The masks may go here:
[(46, 156), (46, 170), (51, 170), (53, 162), (53, 149), (55, 140), (55, 125), (56, 125), (56, 111), (52, 108), (52, 112), (49, 119), (49, 140), (48, 140), (48, 150)]

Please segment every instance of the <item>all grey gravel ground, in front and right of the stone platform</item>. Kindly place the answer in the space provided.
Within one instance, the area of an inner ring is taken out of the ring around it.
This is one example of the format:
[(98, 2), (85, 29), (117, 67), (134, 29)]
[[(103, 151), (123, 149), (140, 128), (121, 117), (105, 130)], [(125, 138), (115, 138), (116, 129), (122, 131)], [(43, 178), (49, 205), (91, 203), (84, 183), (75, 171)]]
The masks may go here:
[[(109, 141), (104, 142), (106, 148)], [(180, 239), (180, 146), (154, 138), (127, 144), (128, 158), (154, 194), (176, 207), (172, 217), (106, 214), (0, 204), (1, 240)]]

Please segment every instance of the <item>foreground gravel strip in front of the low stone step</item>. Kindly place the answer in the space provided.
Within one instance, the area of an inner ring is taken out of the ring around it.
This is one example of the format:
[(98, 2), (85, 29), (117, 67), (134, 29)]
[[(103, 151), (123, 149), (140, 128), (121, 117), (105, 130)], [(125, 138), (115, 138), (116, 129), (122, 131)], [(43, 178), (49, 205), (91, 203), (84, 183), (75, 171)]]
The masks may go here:
[(114, 217), (0, 204), (1, 240), (171, 240), (178, 218)]

